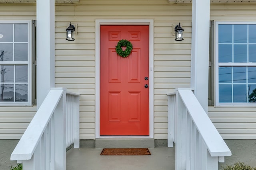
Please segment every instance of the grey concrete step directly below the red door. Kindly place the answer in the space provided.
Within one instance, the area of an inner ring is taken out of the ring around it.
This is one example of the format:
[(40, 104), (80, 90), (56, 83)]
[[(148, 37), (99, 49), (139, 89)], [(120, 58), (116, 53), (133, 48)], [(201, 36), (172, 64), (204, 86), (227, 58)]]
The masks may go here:
[(154, 148), (153, 138), (98, 138), (95, 148)]

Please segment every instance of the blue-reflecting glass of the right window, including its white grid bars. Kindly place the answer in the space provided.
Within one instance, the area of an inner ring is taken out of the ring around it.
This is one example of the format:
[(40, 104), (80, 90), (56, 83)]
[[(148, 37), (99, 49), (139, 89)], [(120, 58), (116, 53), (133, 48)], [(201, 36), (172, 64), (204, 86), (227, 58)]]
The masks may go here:
[[(256, 102), (256, 24), (217, 21), (216, 104)], [(224, 23), (224, 24), (223, 24)], [(232, 24), (230, 24), (232, 23)]]

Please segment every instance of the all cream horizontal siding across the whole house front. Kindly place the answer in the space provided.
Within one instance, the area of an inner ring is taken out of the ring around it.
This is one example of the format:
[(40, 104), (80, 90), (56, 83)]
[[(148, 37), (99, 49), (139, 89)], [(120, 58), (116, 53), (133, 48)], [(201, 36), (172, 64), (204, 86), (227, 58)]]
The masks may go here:
[[(167, 139), (167, 96), (190, 87), (191, 4), (168, 0), (80, 0), (56, 4), (56, 87), (80, 94), (80, 139), (95, 139), (95, 20), (154, 20), (154, 138)], [(211, 4), (211, 20), (255, 20), (256, 6)], [(1, 4), (1, 20), (36, 19), (35, 4)], [(68, 23), (77, 24), (75, 41), (65, 40)], [(184, 28), (174, 41), (173, 24)], [(21, 109), (21, 110), (19, 110)], [(0, 139), (19, 139), (36, 107), (0, 107)], [(224, 139), (255, 139), (254, 108), (209, 107), (209, 116)]]

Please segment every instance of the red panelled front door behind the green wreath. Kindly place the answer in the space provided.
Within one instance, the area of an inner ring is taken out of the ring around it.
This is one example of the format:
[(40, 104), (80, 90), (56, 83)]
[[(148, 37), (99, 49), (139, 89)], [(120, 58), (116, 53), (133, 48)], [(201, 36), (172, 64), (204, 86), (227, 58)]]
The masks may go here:
[[(133, 45), (126, 58), (121, 39)], [(148, 47), (148, 25), (100, 26), (100, 135), (149, 135)]]

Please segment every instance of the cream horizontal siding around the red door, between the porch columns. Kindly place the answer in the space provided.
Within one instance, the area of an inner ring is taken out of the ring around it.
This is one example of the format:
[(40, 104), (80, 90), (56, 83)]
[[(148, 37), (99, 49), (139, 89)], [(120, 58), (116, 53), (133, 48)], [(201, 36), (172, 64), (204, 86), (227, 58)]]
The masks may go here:
[[(80, 0), (55, 9), (56, 86), (81, 95), (81, 139), (95, 139), (95, 20), (154, 19), (154, 138), (167, 139), (166, 93), (190, 86), (191, 5), (171, 5), (166, 0)], [(72, 42), (63, 38), (67, 20), (78, 25)], [(172, 35), (172, 24), (179, 21), (188, 37), (182, 43)]]

